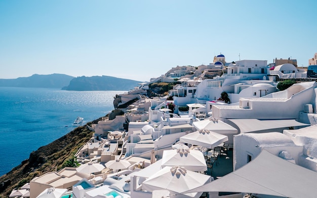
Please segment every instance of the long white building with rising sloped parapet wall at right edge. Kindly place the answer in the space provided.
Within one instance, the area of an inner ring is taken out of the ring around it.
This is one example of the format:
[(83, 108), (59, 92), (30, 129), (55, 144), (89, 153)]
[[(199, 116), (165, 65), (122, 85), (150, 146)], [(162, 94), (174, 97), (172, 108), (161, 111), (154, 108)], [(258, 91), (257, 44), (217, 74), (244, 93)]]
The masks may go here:
[(299, 119), (309, 123), (304, 105), (311, 104), (316, 112), (316, 82), (294, 84), (284, 91), (271, 93), (262, 98), (240, 98), (239, 104), (213, 105), (213, 117), (221, 120), (255, 118), (266, 120)]

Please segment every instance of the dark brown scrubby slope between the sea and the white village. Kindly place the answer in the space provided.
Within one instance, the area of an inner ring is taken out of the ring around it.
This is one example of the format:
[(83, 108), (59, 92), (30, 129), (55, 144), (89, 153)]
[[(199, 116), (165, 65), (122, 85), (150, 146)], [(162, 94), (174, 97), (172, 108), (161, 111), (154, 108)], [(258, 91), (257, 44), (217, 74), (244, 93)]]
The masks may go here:
[[(101, 118), (87, 125), (97, 124), (100, 120)], [(73, 156), (92, 134), (86, 125), (77, 127), (54, 142), (31, 152), (29, 159), (0, 177), (0, 197), (8, 197), (13, 189), (21, 187), (35, 176), (60, 170), (64, 161)]]

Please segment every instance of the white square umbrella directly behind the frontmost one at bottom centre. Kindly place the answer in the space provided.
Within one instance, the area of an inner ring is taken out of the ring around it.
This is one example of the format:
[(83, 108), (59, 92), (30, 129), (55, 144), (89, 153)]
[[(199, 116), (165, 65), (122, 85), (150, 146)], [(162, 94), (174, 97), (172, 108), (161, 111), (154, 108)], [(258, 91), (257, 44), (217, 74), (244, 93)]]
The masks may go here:
[(183, 148), (164, 150), (161, 166), (180, 166), (189, 171), (207, 171), (205, 157), (201, 151)]

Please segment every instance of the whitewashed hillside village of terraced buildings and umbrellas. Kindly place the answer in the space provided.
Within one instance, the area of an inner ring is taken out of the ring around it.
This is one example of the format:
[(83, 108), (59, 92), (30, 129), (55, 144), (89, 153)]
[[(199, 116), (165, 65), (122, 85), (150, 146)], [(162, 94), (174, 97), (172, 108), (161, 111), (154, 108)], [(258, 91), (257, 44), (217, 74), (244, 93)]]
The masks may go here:
[[(297, 83), (280, 90), (286, 80)], [(175, 84), (168, 95), (146, 96), (162, 82)], [(118, 95), (123, 115), (87, 126), (81, 166), (35, 177), (10, 197), (315, 197), (316, 93), (295, 59), (228, 63), (219, 54), (173, 67)]]

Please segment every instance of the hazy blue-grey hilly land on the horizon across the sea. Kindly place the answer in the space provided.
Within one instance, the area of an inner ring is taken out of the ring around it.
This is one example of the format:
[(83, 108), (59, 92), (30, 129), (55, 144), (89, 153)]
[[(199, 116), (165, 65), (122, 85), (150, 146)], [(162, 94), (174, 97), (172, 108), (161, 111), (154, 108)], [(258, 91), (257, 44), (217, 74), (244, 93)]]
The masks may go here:
[(133, 89), (139, 83), (141, 82), (105, 75), (73, 77), (58, 73), (0, 79), (0, 87), (59, 88), (68, 91), (125, 91)]

